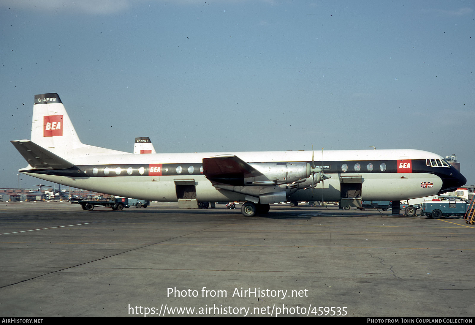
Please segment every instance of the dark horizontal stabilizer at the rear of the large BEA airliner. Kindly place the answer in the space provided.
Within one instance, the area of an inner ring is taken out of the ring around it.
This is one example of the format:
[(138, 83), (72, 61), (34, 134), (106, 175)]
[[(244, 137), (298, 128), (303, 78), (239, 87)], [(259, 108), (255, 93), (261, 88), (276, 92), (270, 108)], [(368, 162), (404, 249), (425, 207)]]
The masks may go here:
[(11, 143), (26, 159), (28, 164), (37, 169), (66, 169), (74, 166), (73, 163), (57, 156), (56, 154), (40, 147), (30, 140), (15, 140)]

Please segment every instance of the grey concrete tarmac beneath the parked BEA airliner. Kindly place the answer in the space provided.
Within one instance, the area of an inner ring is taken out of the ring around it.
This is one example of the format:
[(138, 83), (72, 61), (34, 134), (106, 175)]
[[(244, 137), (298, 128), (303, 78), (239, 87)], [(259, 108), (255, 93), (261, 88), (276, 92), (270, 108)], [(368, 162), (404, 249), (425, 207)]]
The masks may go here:
[(333, 206), (0, 202), (0, 316), (474, 316), (474, 233)]

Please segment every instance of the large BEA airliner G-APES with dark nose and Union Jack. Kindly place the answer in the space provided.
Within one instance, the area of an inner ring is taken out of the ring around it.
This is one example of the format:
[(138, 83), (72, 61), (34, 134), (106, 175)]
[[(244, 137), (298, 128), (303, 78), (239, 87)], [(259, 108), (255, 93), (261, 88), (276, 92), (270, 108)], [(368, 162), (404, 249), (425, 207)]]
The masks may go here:
[(244, 216), (266, 214), (277, 202), (361, 200), (392, 200), (399, 214), (400, 200), (466, 182), (443, 157), (412, 149), (133, 154), (96, 147), (79, 140), (56, 93), (34, 97), (31, 140), (11, 143), (28, 162), (19, 172), (42, 180), (186, 208), (243, 201)]

